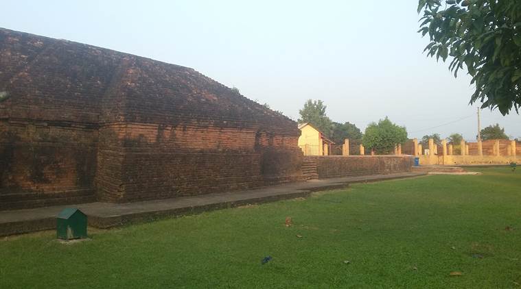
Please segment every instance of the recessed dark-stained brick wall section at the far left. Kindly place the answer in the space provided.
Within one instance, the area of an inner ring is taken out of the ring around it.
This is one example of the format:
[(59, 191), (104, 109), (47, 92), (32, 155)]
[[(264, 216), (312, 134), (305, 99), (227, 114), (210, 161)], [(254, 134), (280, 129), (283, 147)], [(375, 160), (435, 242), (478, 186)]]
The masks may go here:
[(0, 121), (0, 194), (94, 190), (97, 131)]

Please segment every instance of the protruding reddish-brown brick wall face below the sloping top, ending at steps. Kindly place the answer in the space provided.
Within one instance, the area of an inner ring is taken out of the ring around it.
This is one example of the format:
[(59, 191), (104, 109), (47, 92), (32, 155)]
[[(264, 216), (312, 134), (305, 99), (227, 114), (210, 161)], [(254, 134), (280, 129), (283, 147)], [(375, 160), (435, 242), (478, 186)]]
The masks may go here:
[(297, 181), (296, 141), (230, 127), (107, 125), (100, 129), (99, 198), (139, 201)]

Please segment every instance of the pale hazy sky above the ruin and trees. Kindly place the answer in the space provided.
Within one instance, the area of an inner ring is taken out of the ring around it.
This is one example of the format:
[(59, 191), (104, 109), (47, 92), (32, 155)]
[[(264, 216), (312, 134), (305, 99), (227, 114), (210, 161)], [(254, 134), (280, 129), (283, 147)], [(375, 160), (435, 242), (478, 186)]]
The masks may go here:
[[(365, 129), (389, 116), (409, 137), (476, 137), (469, 77), (421, 53), (417, 0), (3, 1), (0, 27), (189, 66), (293, 119), (321, 99)], [(463, 119), (462, 119), (463, 118)], [(483, 110), (521, 137), (521, 116)]]

